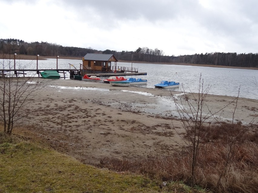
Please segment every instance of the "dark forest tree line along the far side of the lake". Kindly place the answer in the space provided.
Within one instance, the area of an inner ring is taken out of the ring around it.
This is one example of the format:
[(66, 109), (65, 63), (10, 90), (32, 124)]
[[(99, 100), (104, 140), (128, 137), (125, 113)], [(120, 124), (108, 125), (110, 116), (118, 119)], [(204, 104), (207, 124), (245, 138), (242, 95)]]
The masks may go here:
[(192, 55), (167, 56), (163, 50), (158, 48), (138, 47), (135, 51), (116, 50), (94, 50), (91, 47), (63, 47), (55, 43), (48, 42), (25, 42), (19, 39), (0, 39), (0, 53), (13, 54), (15, 52), (25, 55), (41, 56), (72, 56), (83, 57), (87, 53), (114, 54), (117, 60), (129, 62), (147, 63), (191, 63), (191, 64), (210, 64), (221, 66), (237, 67), (258, 67), (258, 53), (224, 53), (212, 52)]

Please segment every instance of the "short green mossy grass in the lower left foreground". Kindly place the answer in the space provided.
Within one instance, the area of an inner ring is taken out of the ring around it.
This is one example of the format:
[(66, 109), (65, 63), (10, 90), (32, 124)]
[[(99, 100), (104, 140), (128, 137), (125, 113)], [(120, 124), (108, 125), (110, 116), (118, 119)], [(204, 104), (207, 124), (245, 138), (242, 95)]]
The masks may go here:
[(160, 192), (141, 175), (84, 165), (33, 144), (0, 145), (0, 192)]

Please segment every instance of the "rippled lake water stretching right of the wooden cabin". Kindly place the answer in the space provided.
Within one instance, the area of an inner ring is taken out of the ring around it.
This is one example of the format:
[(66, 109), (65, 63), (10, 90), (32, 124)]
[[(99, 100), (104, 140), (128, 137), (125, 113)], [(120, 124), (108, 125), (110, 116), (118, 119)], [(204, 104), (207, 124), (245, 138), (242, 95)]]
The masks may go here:
[[(131, 63), (119, 64), (131, 66)], [(161, 80), (168, 80), (180, 82), (179, 88), (170, 88), (171, 90), (181, 91), (183, 85), (186, 92), (198, 92), (201, 76), (203, 87), (211, 86), (209, 94), (237, 96), (240, 88), (240, 97), (258, 99), (258, 87), (253, 83), (255, 79), (258, 81), (258, 70), (143, 63), (133, 63), (133, 67), (138, 68), (139, 72), (147, 72), (146, 76), (134, 78), (147, 79), (145, 87), (148, 88), (154, 88), (153, 85)]]

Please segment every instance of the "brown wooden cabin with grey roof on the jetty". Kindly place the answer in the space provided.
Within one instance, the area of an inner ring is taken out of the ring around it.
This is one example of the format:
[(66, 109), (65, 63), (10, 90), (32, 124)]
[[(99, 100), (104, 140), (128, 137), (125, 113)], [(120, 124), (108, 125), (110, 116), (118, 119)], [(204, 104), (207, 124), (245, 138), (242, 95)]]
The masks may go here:
[(82, 58), (82, 72), (110, 72), (111, 62), (117, 62), (118, 60), (114, 54), (92, 54), (87, 53)]

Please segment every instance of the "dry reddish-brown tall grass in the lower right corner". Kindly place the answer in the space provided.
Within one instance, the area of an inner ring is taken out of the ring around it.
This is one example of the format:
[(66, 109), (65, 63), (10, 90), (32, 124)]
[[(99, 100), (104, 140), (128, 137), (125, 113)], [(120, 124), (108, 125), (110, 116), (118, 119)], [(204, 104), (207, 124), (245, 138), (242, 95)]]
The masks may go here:
[[(200, 143), (194, 184), (213, 192), (258, 192), (257, 125), (223, 123), (211, 128), (214, 130), (210, 129), (207, 139)], [(229, 143), (229, 133), (236, 143)], [(103, 158), (101, 166), (117, 172), (136, 172), (154, 179), (190, 184), (191, 159), (192, 155), (186, 150), (179, 150), (170, 155), (138, 159)]]

